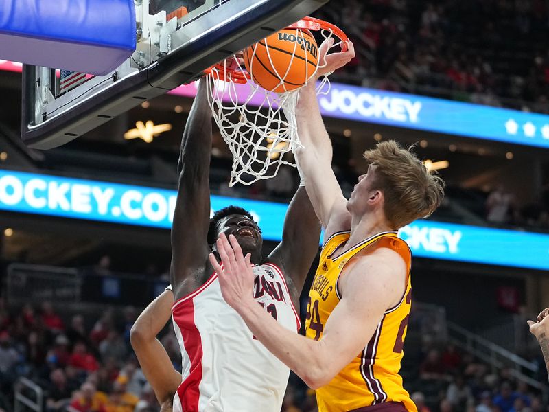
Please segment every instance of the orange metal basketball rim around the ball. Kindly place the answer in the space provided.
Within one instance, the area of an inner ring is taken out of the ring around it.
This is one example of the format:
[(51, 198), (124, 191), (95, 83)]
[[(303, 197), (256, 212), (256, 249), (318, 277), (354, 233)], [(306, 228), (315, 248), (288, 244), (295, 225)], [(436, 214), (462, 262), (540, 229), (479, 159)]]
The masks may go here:
[[(338, 36), (342, 41), (342, 51), (347, 52), (347, 41), (349, 38), (347, 34), (343, 32), (335, 24), (328, 23), (327, 21), (316, 19), (316, 17), (303, 17), (303, 19), (296, 21), (296, 23), (285, 27), (287, 29), (301, 29), (301, 30), (312, 30), (318, 32), (320, 30), (328, 30), (334, 35)], [(233, 59), (232, 61), (229, 59)], [(212, 74), (213, 71), (218, 71), (219, 80), (229, 81), (232, 80), (235, 83), (245, 84), (250, 80), (250, 73), (245, 71), (242, 67), (239, 67), (237, 62), (234, 61), (234, 56), (227, 58), (222, 62), (219, 62), (209, 69), (204, 71), (205, 74)]]

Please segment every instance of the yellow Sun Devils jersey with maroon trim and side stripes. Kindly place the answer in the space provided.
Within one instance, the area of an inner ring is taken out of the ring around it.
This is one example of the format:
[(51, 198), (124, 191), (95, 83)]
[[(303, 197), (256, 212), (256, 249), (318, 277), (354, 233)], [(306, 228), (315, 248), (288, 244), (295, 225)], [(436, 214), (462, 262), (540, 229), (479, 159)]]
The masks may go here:
[[(322, 252), (307, 302), (307, 336), (320, 339), (332, 310), (340, 301), (338, 278), (345, 264), (365, 248), (388, 247), (406, 261), (408, 277), (405, 293), (397, 306), (388, 308), (364, 350), (344, 367), (328, 385), (316, 391), (320, 412), (343, 412), (362, 409), (383, 402), (401, 402), (408, 411), (417, 412), (399, 376), (402, 347), (412, 303), (410, 282), (411, 253), (397, 232), (378, 233), (349, 251), (332, 257), (349, 232), (331, 236)], [(375, 274), (372, 274), (375, 275)], [(364, 292), (367, 298), (367, 291)], [(326, 360), (329, 362), (329, 359)]]

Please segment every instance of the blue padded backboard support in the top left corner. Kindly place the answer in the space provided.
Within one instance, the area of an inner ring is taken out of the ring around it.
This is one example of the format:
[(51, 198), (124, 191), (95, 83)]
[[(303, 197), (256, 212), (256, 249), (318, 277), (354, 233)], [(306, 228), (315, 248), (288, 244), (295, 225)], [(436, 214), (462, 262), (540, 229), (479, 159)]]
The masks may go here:
[(135, 51), (133, 0), (0, 0), (0, 58), (105, 75)]

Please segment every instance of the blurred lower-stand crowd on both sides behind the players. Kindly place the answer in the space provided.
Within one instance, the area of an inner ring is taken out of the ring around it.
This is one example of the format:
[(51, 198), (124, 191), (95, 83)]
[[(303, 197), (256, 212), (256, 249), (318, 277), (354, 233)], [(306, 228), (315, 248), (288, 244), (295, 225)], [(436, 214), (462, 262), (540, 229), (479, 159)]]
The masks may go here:
[[(47, 412), (159, 411), (130, 346), (135, 308), (71, 313), (61, 317), (49, 302), (10, 312), (0, 300), (0, 411), (12, 411), (16, 390), (33, 398), (18, 387), (20, 376), (43, 389)], [(173, 328), (165, 328), (160, 339), (180, 369)], [(495, 371), (453, 345), (408, 346), (404, 362), (405, 386), (419, 412), (548, 411), (540, 394), (509, 370)], [(543, 361), (540, 366), (535, 378), (546, 380)], [(316, 411), (314, 391), (294, 374), (282, 411)]]

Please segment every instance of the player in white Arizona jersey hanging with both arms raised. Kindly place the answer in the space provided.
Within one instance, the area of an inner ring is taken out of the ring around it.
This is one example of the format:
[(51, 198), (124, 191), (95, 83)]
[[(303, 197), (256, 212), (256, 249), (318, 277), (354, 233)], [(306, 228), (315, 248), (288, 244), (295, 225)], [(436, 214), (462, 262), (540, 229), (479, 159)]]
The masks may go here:
[(217, 254), (220, 233), (233, 234), (255, 265), (255, 299), (284, 328), (297, 332), (299, 295), (318, 251), (320, 224), (305, 187), (299, 187), (286, 214), (282, 242), (263, 258), (261, 230), (248, 211), (231, 206), (209, 218), (211, 108), (205, 81), (200, 81), (189, 113), (178, 162), (170, 277), (183, 382), (173, 409), (279, 412), (290, 369), (226, 304), (208, 255)]

